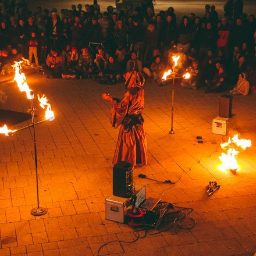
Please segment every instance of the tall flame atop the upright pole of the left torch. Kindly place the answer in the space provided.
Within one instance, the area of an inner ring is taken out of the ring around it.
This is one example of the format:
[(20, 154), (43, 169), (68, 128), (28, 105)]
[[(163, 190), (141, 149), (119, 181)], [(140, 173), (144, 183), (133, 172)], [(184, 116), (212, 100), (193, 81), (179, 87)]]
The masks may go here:
[(27, 94), (28, 99), (33, 99), (34, 94), (33, 91), (29, 88), (29, 85), (26, 82), (26, 76), (23, 72), (21, 72), (23, 61), (15, 61), (14, 65), (12, 65), (13, 69), (15, 69), (15, 77), (14, 81), (16, 81), (17, 86), (19, 87), (20, 91), (24, 91)]

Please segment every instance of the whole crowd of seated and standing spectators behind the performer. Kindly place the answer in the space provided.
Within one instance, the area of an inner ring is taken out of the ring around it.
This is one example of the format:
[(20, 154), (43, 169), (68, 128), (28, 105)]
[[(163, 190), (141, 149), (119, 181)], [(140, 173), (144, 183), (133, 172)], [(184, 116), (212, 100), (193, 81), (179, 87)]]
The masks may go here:
[(172, 7), (155, 14), (150, 0), (132, 12), (112, 6), (101, 12), (94, 0), (59, 15), (41, 7), (31, 12), (24, 0), (10, 2), (0, 13), (1, 74), (24, 56), (48, 77), (72, 74), (115, 84), (137, 70), (162, 85), (172, 55), (179, 54), (180, 74), (191, 74), (180, 81), (184, 88), (205, 86), (207, 93), (233, 88), (230, 93), (247, 95), (256, 86), (256, 19), (243, 13), (241, 0), (240, 6), (227, 1), (221, 19), (214, 5), (206, 5), (204, 17), (190, 13), (180, 24)]

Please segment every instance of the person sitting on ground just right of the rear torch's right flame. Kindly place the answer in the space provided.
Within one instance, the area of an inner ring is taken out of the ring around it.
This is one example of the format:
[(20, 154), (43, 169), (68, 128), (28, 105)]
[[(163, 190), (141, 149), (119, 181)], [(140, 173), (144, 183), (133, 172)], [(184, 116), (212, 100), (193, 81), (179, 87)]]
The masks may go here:
[(200, 86), (201, 72), (198, 69), (198, 61), (193, 61), (192, 66), (189, 68), (190, 78), (182, 79), (182, 83), (180, 86), (183, 88), (189, 88), (193, 90), (197, 90)]

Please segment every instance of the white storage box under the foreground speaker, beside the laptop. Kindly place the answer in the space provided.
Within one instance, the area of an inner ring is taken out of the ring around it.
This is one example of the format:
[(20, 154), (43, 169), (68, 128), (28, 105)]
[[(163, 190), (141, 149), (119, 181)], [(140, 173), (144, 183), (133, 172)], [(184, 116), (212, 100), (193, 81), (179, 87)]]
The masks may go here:
[(109, 221), (125, 223), (125, 216), (130, 208), (131, 199), (111, 195), (109, 198), (106, 198), (105, 202), (106, 219)]

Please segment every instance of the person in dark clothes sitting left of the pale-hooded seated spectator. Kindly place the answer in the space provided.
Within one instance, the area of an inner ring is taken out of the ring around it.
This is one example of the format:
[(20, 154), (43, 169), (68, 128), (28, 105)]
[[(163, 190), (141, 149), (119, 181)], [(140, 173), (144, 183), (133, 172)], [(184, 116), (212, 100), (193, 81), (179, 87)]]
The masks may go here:
[(214, 76), (214, 80), (206, 80), (207, 90), (205, 93), (222, 93), (226, 90), (226, 73), (222, 65), (219, 66), (219, 71)]

